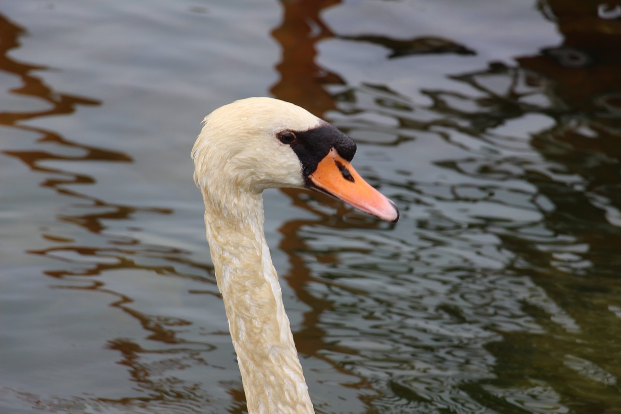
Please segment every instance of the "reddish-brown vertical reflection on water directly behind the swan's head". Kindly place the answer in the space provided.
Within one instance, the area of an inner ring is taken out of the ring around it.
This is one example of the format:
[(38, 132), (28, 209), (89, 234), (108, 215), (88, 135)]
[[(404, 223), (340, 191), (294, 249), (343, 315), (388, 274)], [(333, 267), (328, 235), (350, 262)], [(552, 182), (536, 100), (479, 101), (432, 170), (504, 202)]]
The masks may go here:
[[(344, 85), (344, 82), (338, 74), (315, 63), (317, 44), (333, 37), (330, 28), (321, 20), (320, 13), (328, 7), (340, 4), (340, 1), (295, 0), (283, 1), (281, 4), (284, 13), (283, 22), (272, 32), (274, 39), (283, 50), (281, 62), (276, 65), (280, 79), (276, 85), (272, 86), (271, 93), (276, 98), (302, 106), (311, 113), (322, 117), (328, 111), (337, 108), (335, 99), (329, 94), (326, 86)], [(311, 309), (304, 313), (302, 330), (294, 332), (297, 350), (300, 354), (327, 362), (342, 374), (353, 376), (354, 374), (349, 370), (320, 354), (320, 351), (324, 350), (344, 354), (355, 354), (356, 351), (325, 341), (325, 331), (320, 328), (321, 316), (324, 311), (333, 308), (333, 303), (313, 296), (309, 293), (307, 286), (312, 282), (327, 282), (318, 280), (304, 262), (304, 258), (298, 254), (299, 251), (308, 249), (307, 244), (300, 237), (301, 229), (326, 225), (333, 228), (350, 228), (351, 224), (345, 224), (342, 219), (349, 209), (342, 203), (319, 193), (309, 195), (306, 190), (290, 188), (281, 191), (291, 198), (294, 206), (304, 209), (316, 217), (315, 219), (290, 220), (278, 229), (283, 235), (279, 248), (288, 255), (291, 265), (291, 272), (289, 274), (281, 273), (280, 277), (289, 283), (297, 298)], [(309, 196), (319, 203), (333, 206), (337, 210), (338, 219), (335, 219), (332, 214), (326, 214), (314, 208), (312, 203), (308, 201)], [(377, 227), (377, 223), (374, 221), (365, 221), (358, 225), (368, 228)], [(322, 258), (318, 259), (322, 260)], [(337, 260), (337, 257), (324, 257), (323, 260)], [(371, 399), (368, 393), (372, 393), (372, 387), (365, 379), (358, 377), (355, 384), (348, 384), (347, 386), (358, 389), (360, 393), (364, 394), (359, 395), (362, 402), (368, 402)], [(369, 410), (371, 410), (370, 407)]]

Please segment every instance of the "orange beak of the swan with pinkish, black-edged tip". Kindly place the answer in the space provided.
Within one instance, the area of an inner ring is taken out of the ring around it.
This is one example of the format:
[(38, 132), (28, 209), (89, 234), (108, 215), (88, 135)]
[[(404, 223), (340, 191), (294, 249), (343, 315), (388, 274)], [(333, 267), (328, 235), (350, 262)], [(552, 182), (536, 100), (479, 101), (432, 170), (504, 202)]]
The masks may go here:
[(316, 190), (345, 201), (360, 211), (392, 223), (399, 219), (397, 206), (360, 177), (351, 163), (333, 148), (308, 178)]

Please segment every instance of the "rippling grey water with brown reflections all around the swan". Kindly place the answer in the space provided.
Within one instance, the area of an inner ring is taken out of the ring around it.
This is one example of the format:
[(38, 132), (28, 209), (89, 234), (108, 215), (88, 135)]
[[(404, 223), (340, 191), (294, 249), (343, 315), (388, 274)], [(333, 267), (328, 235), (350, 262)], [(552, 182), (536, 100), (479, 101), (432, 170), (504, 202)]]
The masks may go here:
[(255, 95), (350, 134), (402, 212), (265, 195), (317, 412), (621, 412), (621, 6), (1, 13), (0, 412), (245, 412), (189, 151)]

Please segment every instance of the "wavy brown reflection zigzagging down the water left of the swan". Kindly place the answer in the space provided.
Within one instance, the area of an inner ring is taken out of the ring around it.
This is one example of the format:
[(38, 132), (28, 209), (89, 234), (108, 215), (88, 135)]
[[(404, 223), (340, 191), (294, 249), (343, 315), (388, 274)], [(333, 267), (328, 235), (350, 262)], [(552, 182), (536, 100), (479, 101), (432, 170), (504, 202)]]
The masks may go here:
[[(73, 260), (68, 260), (71, 264), (65, 269), (44, 270), (43, 273), (48, 276), (66, 279), (68, 282), (75, 282), (75, 284), (50, 285), (50, 288), (75, 290), (76, 293), (83, 290), (94, 290), (116, 297), (116, 300), (113, 300), (109, 306), (117, 308), (137, 320), (142, 328), (150, 333), (145, 337), (146, 339), (157, 341), (161, 344), (176, 344), (176, 346), (174, 348), (166, 347), (165, 349), (145, 349), (140, 344), (134, 343), (129, 339), (109, 339), (107, 347), (120, 353), (121, 359), (119, 364), (129, 367), (128, 373), (131, 379), (138, 387), (148, 390), (149, 397), (127, 397), (111, 400), (98, 398), (94, 395), (93, 398), (88, 399), (75, 398), (73, 400), (65, 400), (61, 397), (54, 397), (50, 401), (45, 401), (29, 392), (16, 393), (20, 399), (29, 402), (32, 407), (50, 410), (86, 410), (87, 407), (97, 409), (97, 407), (100, 407), (100, 402), (133, 404), (135, 402), (164, 401), (170, 397), (187, 398), (188, 400), (196, 400), (199, 403), (203, 402), (205, 400), (204, 395), (199, 395), (200, 393), (196, 391), (199, 389), (198, 385), (179, 385), (178, 380), (161, 375), (161, 372), (154, 368), (157, 364), (144, 362), (142, 356), (146, 354), (160, 354), (162, 357), (158, 363), (161, 366), (170, 367), (171, 369), (183, 368), (191, 364), (202, 363), (199, 352), (210, 351), (213, 346), (206, 343), (191, 344), (188, 341), (184, 341), (177, 336), (177, 328), (189, 324), (188, 321), (161, 315), (149, 315), (138, 311), (132, 308), (133, 298), (122, 292), (110, 290), (105, 283), (97, 280), (96, 277), (113, 270), (142, 269), (155, 272), (155, 274), (175, 275), (176, 277), (189, 278), (215, 286), (215, 281), (212, 278), (179, 272), (175, 269), (175, 264), (193, 267), (198, 270), (198, 274), (202, 275), (211, 274), (212, 269), (206, 265), (189, 260), (189, 252), (169, 246), (143, 244), (140, 239), (134, 237), (106, 234), (104, 221), (129, 221), (138, 212), (170, 214), (172, 212), (171, 209), (119, 205), (109, 203), (95, 196), (85, 195), (77, 190), (73, 190), (73, 188), (79, 188), (79, 186), (72, 185), (94, 185), (97, 182), (96, 177), (86, 173), (76, 173), (47, 166), (53, 165), (53, 163), (48, 163), (50, 161), (129, 163), (133, 162), (133, 159), (130, 155), (116, 150), (83, 144), (67, 139), (55, 131), (22, 124), (24, 121), (33, 121), (48, 116), (72, 116), (78, 111), (80, 106), (101, 105), (101, 101), (98, 99), (55, 91), (52, 86), (47, 85), (42, 80), (42, 77), (36, 75), (36, 73), (47, 71), (50, 68), (44, 65), (19, 62), (11, 58), (9, 52), (14, 48), (20, 47), (19, 39), (25, 33), (26, 30), (24, 28), (0, 15), (0, 39), (2, 39), (0, 42), (0, 70), (5, 71), (9, 75), (17, 76), (21, 82), (21, 86), (9, 90), (8, 93), (42, 101), (47, 104), (47, 109), (20, 112), (4, 111), (0, 113), (0, 124), (2, 126), (27, 131), (39, 137), (35, 140), (34, 145), (25, 143), (24, 149), (3, 150), (2, 152), (21, 160), (30, 170), (39, 173), (40, 177), (42, 177), (39, 185), (44, 188), (51, 188), (58, 195), (66, 197), (67, 204), (71, 206), (73, 211), (76, 211), (76, 214), (58, 214), (55, 219), (63, 223), (73, 224), (89, 234), (96, 235), (99, 237), (97, 242), (106, 245), (106, 247), (84, 246), (74, 237), (67, 237), (64, 234), (52, 234), (49, 229), (42, 228), (40, 229), (42, 239), (55, 245), (45, 249), (27, 251), (27, 253), (56, 259), (60, 258), (65, 260), (65, 262), (67, 261), (65, 259), (67, 253), (70, 254), (70, 257), (88, 258), (86, 261), (88, 264), (84, 264), (78, 259), (77, 263), (81, 266), (79, 269), (76, 269), (76, 266), (73, 265)], [(55, 153), (48, 152), (45, 149), (39, 148), (39, 144), (44, 144), (42, 148), (49, 147), (49, 144), (54, 144), (56, 151)], [(32, 146), (28, 147), (27, 145)], [(64, 152), (72, 155), (63, 154), (63, 149), (71, 149), (71, 151)], [(75, 153), (83, 155), (73, 155)], [(79, 203), (75, 203), (75, 200), (79, 200)], [(63, 227), (61, 226), (61, 228)], [(58, 246), (59, 244), (63, 244), (63, 246)], [(168, 265), (150, 265), (150, 257), (157, 257), (160, 262), (165, 260)], [(55, 261), (57, 266), (61, 263), (59, 260)], [(89, 277), (89, 279), (84, 279), (84, 277)], [(89, 283), (85, 285), (84, 282), (86, 280), (89, 280)], [(160, 368), (160, 370), (165, 369)], [(77, 390), (76, 392), (83, 392), (83, 390)], [(131, 391), (128, 390), (128, 392)]]

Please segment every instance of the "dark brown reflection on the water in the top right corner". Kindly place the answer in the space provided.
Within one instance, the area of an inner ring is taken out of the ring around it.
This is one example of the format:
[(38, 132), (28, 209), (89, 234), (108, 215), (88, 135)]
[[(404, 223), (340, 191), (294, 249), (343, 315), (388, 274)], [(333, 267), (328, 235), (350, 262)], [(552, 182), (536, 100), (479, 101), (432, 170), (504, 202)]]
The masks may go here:
[[(520, 67), (554, 80), (551, 89), (569, 108), (619, 132), (621, 116), (621, 21), (602, 17), (605, 2), (547, 0), (546, 17), (563, 35), (541, 55), (519, 58)], [(620, 7), (620, 6), (617, 6)], [(605, 16), (605, 15), (604, 15)], [(610, 148), (612, 149), (612, 148)], [(619, 145), (615, 146), (619, 149)]]

